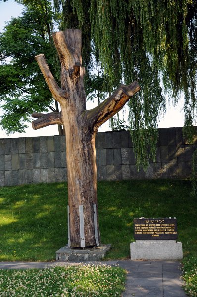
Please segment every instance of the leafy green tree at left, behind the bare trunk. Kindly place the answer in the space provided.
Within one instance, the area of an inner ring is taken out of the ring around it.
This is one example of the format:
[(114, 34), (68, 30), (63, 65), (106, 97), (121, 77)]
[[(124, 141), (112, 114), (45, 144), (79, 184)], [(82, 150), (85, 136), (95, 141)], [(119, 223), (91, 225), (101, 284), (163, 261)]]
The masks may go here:
[(55, 74), (50, 32), (54, 13), (49, 0), (18, 1), (26, 5), (0, 34), (0, 124), (7, 133), (23, 132), (32, 112), (43, 112), (52, 101), (35, 56), (45, 53)]

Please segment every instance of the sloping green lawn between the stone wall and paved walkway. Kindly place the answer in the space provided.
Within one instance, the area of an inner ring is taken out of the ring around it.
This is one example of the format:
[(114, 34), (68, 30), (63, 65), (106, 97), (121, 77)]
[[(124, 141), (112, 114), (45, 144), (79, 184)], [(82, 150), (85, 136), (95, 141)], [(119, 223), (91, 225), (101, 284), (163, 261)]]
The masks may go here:
[[(176, 217), (184, 256), (197, 255), (197, 200), (190, 182), (99, 182), (101, 242), (108, 259), (128, 258), (133, 219)], [(67, 184), (0, 188), (0, 261), (47, 261), (67, 243)]]

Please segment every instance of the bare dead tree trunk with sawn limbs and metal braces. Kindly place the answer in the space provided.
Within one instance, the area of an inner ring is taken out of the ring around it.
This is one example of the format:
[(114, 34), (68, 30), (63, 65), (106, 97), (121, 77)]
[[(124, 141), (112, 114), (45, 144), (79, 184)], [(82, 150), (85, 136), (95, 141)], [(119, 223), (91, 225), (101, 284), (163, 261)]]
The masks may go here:
[(97, 167), (95, 136), (106, 120), (117, 113), (140, 90), (137, 82), (121, 85), (118, 90), (92, 110), (86, 110), (82, 67), (81, 31), (69, 29), (53, 34), (61, 61), (61, 88), (55, 82), (43, 54), (36, 60), (61, 112), (34, 113), (34, 129), (62, 124), (66, 135), (68, 169), (69, 244), (71, 247), (98, 246)]

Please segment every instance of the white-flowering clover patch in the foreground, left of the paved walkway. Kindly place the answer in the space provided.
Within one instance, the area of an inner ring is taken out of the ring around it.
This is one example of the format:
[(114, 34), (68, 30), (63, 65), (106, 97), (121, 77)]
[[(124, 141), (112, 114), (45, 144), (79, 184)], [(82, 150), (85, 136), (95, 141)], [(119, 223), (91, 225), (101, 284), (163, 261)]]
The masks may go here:
[(125, 271), (108, 265), (0, 270), (0, 296), (121, 296)]

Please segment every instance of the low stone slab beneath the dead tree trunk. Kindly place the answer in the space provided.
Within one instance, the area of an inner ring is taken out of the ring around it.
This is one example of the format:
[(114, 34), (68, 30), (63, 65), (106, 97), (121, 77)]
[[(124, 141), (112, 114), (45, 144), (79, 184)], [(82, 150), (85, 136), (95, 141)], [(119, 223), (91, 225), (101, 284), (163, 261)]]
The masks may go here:
[(84, 262), (103, 260), (111, 245), (100, 245), (95, 248), (72, 248), (66, 245), (56, 251), (57, 261)]

